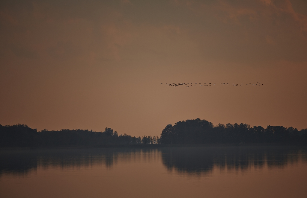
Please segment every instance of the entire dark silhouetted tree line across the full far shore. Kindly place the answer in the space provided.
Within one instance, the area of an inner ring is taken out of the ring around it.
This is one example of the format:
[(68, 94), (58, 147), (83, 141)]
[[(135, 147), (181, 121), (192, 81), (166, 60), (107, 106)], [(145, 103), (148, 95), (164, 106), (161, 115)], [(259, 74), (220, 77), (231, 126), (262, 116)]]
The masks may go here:
[(132, 137), (118, 135), (111, 128), (103, 132), (81, 129), (37, 131), (25, 124), (0, 124), (0, 147), (61, 147), (141, 144), (245, 144), (245, 143), (307, 143), (307, 129), (283, 126), (251, 127), (248, 124), (218, 124), (207, 120), (179, 121), (168, 124), (159, 136)]

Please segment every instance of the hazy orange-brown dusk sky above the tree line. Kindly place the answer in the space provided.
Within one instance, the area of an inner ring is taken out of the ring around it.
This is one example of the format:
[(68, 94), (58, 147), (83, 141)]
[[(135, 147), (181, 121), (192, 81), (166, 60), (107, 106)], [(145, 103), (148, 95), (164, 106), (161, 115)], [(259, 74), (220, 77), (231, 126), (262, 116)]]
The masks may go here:
[(306, 74), (306, 0), (0, 3), (2, 125), (143, 136), (200, 118), (300, 130)]

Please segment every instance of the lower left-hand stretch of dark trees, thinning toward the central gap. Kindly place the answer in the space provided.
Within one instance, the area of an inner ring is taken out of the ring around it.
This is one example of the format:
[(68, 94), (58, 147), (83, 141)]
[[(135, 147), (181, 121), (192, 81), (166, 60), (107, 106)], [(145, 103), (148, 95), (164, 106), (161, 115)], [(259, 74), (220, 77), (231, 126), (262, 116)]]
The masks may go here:
[(62, 147), (62, 146), (103, 146), (137, 145), (157, 143), (152, 136), (132, 137), (118, 135), (117, 131), (106, 128), (103, 132), (81, 129), (62, 129), (60, 131), (37, 131), (25, 124), (0, 124), (0, 147)]

